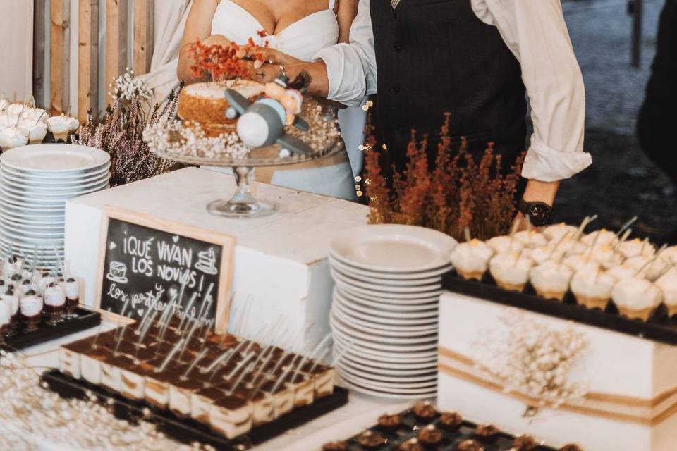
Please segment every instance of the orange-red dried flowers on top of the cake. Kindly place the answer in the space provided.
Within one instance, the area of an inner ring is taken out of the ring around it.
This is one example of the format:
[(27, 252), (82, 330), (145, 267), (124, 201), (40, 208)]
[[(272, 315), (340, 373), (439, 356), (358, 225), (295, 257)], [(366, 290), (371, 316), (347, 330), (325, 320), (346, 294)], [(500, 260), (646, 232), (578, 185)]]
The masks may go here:
[(190, 44), (188, 55), (195, 61), (190, 66), (193, 75), (200, 77), (209, 73), (215, 81), (232, 78), (251, 80), (254, 76), (252, 61), (263, 63), (264, 59), (261, 47), (252, 38), (245, 45), (231, 42), (227, 47), (219, 44), (205, 45), (198, 41)]

